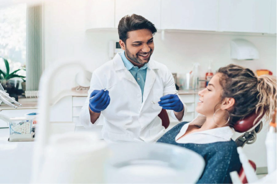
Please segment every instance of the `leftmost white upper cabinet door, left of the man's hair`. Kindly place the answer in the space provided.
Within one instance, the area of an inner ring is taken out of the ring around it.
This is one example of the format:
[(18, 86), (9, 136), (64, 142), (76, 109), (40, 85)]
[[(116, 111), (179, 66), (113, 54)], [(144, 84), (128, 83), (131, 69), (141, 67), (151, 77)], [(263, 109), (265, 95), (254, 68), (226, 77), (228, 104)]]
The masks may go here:
[(86, 29), (114, 28), (115, 0), (88, 0)]

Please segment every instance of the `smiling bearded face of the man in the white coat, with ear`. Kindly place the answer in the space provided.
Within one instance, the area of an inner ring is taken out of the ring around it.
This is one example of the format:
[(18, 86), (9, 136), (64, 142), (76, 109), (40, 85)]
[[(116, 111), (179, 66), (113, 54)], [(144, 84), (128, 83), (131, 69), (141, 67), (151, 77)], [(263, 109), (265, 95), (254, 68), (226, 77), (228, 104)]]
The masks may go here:
[(135, 66), (142, 67), (148, 63), (154, 51), (153, 34), (149, 29), (129, 31), (126, 44), (119, 40), (125, 55)]

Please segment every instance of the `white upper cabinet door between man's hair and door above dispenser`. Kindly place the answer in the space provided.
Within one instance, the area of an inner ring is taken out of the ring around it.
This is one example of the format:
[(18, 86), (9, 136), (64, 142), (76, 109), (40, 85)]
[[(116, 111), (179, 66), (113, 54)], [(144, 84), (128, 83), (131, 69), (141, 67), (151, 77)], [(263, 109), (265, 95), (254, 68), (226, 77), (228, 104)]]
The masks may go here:
[(216, 31), (218, 0), (162, 0), (162, 29)]

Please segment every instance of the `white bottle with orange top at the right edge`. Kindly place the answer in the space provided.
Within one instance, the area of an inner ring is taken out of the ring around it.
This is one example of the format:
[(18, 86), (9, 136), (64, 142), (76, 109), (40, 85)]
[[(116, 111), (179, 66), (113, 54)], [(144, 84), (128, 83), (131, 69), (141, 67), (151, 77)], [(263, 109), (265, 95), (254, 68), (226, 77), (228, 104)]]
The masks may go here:
[(272, 121), (269, 124), (269, 130), (265, 140), (267, 148), (267, 173), (270, 174), (276, 170), (276, 109), (272, 115)]

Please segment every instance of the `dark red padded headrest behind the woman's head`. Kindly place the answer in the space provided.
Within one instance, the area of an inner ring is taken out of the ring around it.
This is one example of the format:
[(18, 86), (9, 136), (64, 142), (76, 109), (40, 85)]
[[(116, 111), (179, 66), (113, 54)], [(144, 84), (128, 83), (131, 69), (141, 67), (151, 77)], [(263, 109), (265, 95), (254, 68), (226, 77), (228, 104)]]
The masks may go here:
[(257, 121), (254, 123), (254, 120), (258, 117), (259, 114), (256, 114), (255, 112), (248, 115), (247, 117), (245, 117), (243, 120), (237, 121), (234, 125), (234, 129), (236, 132), (246, 132), (249, 129), (251, 129), (252, 127), (254, 127), (255, 125), (257, 125), (257, 123), (259, 123), (259, 121), (262, 119), (263, 115), (261, 117), (259, 117), (257, 119)]

